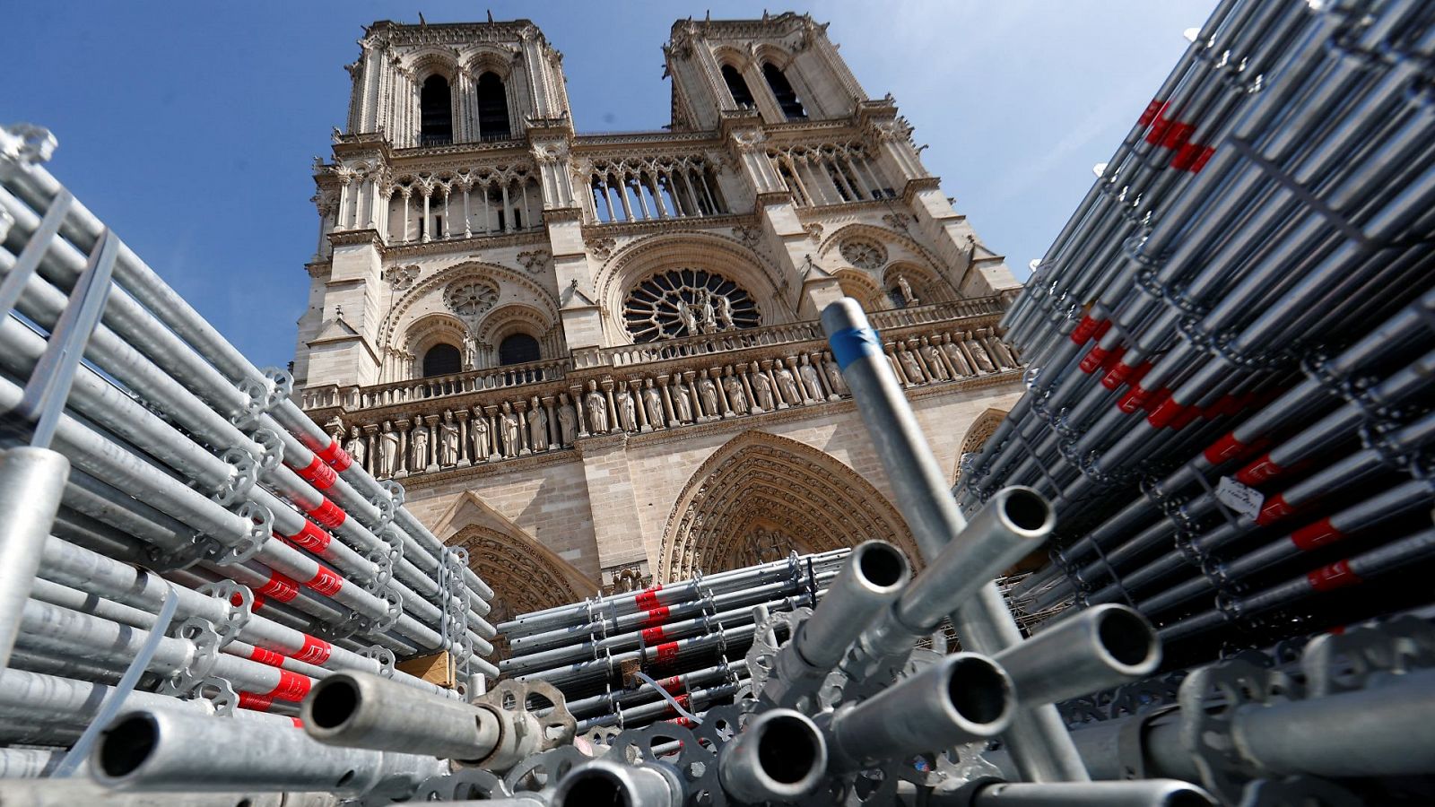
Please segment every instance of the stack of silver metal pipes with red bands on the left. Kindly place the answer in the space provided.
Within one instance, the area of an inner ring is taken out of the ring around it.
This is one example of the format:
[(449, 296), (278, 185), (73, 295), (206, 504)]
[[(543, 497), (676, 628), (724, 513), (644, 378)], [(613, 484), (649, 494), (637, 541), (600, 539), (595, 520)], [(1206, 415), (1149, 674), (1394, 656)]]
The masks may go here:
[(72, 773), (119, 708), (263, 747), (339, 672), (458, 698), (395, 669), (420, 655), (482, 692), (492, 590), (42, 167), (53, 146), (0, 129), (0, 777)]

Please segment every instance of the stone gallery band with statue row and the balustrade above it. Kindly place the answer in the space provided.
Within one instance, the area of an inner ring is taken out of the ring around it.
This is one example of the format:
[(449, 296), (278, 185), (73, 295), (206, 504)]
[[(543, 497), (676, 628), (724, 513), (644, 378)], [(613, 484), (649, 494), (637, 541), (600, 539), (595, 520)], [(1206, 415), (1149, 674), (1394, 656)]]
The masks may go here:
[[(884, 350), (905, 386), (956, 385), (1020, 369), (1019, 358), (994, 336), (1000, 307), (969, 313), (964, 303), (926, 306), (944, 307), (947, 317), (940, 320), (908, 310), (916, 322), (883, 332)], [(761, 418), (847, 398), (825, 339), (817, 330), (796, 339), (796, 329), (817, 323), (786, 327), (794, 329), (792, 342), (614, 360), (587, 372), (564, 372), (561, 362), (521, 365), (525, 372), (551, 373), (532, 382), (511, 383), (495, 375), (499, 370), (484, 370), (343, 395), (311, 391), (304, 401), (319, 415), (317, 409), (334, 409), (327, 428), (356, 462), (379, 478), (405, 478), (564, 451), (590, 437)], [(657, 360), (663, 363), (646, 366)]]

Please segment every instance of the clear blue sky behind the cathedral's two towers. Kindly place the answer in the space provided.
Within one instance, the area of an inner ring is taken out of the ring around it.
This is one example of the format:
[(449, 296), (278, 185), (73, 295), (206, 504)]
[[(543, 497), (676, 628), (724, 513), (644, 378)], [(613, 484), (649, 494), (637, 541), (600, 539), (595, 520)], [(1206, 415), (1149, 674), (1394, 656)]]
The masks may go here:
[[(829, 22), (872, 96), (891, 92), (928, 169), (1025, 277), (1214, 0), (841, 0)], [(580, 132), (667, 122), (673, 20), (762, 3), (14, 3), (0, 122), (60, 141), (76, 195), (258, 365), (294, 352), (317, 218), (310, 161), (349, 102), (362, 26), (528, 17), (564, 52)]]

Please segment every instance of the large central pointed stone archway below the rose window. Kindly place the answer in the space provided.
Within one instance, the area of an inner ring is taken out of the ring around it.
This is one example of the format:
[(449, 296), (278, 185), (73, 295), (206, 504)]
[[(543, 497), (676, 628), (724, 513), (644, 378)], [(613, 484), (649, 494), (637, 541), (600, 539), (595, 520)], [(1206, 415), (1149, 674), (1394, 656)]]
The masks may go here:
[(867, 480), (806, 444), (743, 432), (707, 458), (673, 504), (659, 580), (710, 574), (881, 538), (918, 563), (897, 510)]

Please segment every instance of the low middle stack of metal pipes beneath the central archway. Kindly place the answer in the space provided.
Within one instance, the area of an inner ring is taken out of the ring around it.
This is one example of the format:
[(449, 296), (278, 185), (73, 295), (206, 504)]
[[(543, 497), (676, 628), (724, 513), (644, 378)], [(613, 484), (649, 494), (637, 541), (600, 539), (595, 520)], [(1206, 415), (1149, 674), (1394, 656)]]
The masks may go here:
[(512, 650), (498, 668), (558, 686), (580, 732), (690, 722), (683, 712), (732, 702), (748, 682), (743, 653), (756, 620), (814, 606), (850, 551), (794, 553), (525, 613), (498, 625)]

